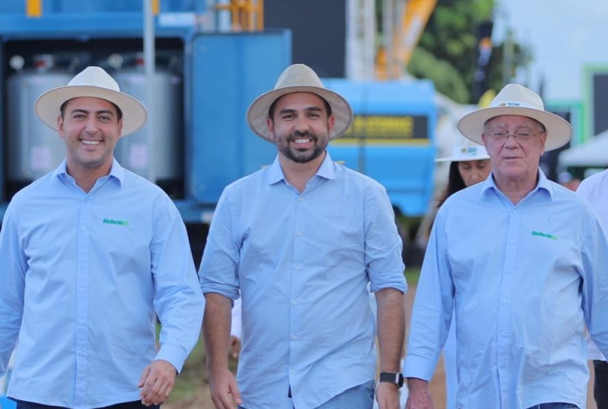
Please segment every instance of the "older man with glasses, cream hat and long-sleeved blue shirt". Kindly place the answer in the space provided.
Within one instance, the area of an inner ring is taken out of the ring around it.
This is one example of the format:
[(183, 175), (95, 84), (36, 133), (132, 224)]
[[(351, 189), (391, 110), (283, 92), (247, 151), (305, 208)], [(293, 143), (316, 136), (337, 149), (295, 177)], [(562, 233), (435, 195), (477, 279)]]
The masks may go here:
[(608, 240), (589, 204), (538, 167), (571, 128), (509, 84), (458, 129), (484, 144), (492, 172), (437, 213), (412, 312), (407, 407), (433, 407), (427, 382), (454, 311), (457, 408), (585, 408), (585, 325), (608, 351)]

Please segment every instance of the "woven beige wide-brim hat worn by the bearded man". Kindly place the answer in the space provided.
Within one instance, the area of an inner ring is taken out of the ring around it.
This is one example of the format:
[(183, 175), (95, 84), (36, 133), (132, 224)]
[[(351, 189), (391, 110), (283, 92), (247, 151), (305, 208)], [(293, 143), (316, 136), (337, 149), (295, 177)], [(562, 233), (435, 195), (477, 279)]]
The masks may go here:
[(278, 77), (272, 91), (263, 93), (251, 102), (247, 109), (249, 128), (263, 139), (272, 142), (266, 124), (268, 110), (276, 99), (291, 93), (314, 93), (330, 104), (335, 118), (330, 140), (341, 137), (352, 123), (352, 108), (346, 99), (339, 93), (325, 88), (312, 68), (304, 64), (293, 64)]

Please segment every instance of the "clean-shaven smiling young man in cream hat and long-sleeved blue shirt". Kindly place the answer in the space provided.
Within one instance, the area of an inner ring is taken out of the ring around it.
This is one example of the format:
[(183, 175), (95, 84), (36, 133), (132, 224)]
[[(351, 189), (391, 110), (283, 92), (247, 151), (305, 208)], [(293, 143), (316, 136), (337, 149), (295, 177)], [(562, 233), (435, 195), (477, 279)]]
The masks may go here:
[(12, 198), (0, 231), (0, 374), (19, 341), (8, 396), (18, 409), (158, 407), (203, 298), (175, 205), (113, 158), (146, 109), (88, 67), (35, 111), (67, 158)]

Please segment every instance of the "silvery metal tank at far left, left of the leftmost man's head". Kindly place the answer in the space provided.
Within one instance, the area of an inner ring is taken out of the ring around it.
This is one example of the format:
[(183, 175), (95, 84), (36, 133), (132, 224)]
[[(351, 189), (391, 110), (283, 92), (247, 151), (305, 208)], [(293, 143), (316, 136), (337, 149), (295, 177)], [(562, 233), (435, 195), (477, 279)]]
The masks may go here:
[[(12, 61), (19, 61), (19, 57)], [(39, 120), (34, 102), (51, 88), (68, 84), (73, 74), (56, 68), (53, 55), (36, 55), (34, 66), (26, 69), (21, 69), (22, 61), (13, 64), (18, 70), (10, 75), (6, 86), (9, 196), (55, 169), (66, 156), (64, 141)]]

